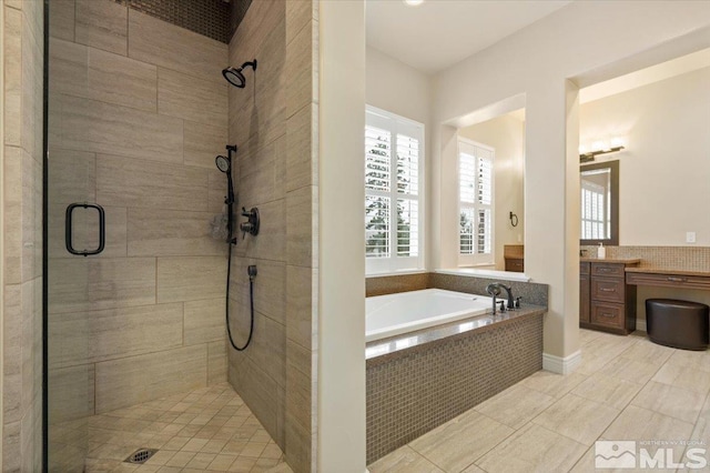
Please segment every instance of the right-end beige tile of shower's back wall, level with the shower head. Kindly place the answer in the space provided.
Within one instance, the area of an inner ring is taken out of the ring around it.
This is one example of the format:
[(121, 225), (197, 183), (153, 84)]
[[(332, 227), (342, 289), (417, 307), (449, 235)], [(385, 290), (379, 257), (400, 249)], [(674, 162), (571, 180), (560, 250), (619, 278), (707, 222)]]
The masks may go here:
[(158, 69), (158, 111), (197, 123), (225, 129), (227, 124), (226, 82)]

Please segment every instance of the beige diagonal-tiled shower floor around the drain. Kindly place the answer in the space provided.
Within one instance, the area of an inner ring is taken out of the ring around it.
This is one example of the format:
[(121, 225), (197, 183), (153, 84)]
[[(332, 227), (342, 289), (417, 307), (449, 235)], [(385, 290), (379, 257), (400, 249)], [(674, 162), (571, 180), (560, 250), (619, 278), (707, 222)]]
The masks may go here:
[[(241, 397), (222, 383), (94, 415), (87, 472), (291, 473), (278, 445)], [(160, 449), (142, 465), (139, 447)]]

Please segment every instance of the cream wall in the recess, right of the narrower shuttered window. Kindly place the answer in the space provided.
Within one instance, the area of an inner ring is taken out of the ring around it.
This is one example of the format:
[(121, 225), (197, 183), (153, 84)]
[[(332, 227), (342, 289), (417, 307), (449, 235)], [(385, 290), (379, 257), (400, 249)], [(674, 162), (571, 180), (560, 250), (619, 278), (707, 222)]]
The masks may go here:
[[(468, 138), (496, 150), (494, 161), (495, 221), (494, 244), (497, 270), (505, 270), (503, 246), (521, 244), (525, 234), (525, 122), (505, 114), (462, 128), (459, 137)], [(510, 224), (509, 213), (518, 215), (518, 225)]]

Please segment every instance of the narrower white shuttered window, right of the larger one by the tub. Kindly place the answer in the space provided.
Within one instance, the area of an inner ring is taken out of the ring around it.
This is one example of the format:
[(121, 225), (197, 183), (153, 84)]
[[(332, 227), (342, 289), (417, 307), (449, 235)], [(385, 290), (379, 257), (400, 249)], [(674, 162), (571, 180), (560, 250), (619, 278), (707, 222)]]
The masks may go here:
[(493, 162), (495, 150), (458, 139), (458, 264), (494, 264)]

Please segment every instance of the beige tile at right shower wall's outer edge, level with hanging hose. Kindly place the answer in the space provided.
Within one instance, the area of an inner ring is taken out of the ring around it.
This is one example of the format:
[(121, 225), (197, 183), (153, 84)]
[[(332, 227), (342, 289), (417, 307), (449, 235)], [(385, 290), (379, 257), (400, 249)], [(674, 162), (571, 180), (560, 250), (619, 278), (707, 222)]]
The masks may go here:
[(312, 349), (315, 325), (313, 310), (317, 306), (318, 272), (311, 268), (286, 266), (286, 338), (306, 350)]

